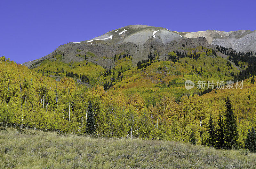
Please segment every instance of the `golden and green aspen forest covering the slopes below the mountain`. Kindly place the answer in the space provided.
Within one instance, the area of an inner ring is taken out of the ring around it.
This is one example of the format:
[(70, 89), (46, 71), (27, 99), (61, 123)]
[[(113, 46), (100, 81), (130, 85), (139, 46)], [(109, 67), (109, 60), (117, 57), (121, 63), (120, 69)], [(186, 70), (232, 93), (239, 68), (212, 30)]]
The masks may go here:
[(186, 79), (228, 80), (241, 70), (211, 54), (213, 49), (184, 50), (191, 50), (187, 58), (175, 60), (172, 52), (169, 60), (160, 61), (156, 54), (155, 60), (142, 63), (147, 64), (142, 69), (132, 66), (132, 55), (127, 53), (121, 53), (109, 70), (86, 60), (62, 63), (60, 53), (32, 70), (1, 57), (1, 126), (83, 135), (91, 101), (94, 135), (190, 142), (193, 133), (196, 144), (207, 146), (210, 114), (218, 128), (218, 115), (224, 115), (229, 96), (236, 115), (237, 147), (245, 148), (248, 128), (256, 127), (253, 77), (238, 90), (186, 90)]

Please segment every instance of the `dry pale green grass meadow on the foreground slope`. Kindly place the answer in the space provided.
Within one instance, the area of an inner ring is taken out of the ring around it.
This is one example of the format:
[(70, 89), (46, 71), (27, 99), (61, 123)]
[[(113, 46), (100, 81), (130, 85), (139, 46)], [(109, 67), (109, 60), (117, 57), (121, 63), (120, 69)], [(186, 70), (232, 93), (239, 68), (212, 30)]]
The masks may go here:
[(0, 131), (0, 168), (255, 168), (256, 155), (201, 145)]

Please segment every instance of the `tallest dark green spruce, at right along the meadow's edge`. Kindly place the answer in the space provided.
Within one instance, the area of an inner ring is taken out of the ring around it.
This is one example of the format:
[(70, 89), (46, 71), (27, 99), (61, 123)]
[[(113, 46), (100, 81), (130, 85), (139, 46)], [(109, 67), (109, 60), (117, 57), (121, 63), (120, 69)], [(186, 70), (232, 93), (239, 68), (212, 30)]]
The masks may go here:
[(236, 148), (238, 143), (238, 130), (236, 126), (236, 115), (233, 112), (229, 97), (226, 99), (226, 111), (224, 114), (224, 145), (226, 149)]

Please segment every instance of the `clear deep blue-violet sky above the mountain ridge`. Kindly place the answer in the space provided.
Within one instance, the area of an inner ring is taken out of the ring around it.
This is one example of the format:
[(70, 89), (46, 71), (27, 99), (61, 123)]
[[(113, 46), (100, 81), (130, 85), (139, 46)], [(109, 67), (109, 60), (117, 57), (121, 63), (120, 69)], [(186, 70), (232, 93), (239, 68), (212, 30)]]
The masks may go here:
[(61, 44), (89, 40), (122, 26), (173, 31), (255, 30), (255, 1), (0, 1), (0, 55), (19, 63)]

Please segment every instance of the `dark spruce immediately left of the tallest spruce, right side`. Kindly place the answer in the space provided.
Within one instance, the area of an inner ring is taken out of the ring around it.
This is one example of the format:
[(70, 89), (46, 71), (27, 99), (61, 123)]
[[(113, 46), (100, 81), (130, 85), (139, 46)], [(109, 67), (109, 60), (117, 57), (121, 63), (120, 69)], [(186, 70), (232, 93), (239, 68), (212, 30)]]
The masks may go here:
[(222, 149), (224, 145), (224, 123), (223, 123), (221, 113), (219, 113), (218, 115), (218, 127), (216, 129), (216, 134), (217, 134), (216, 147), (218, 149)]

